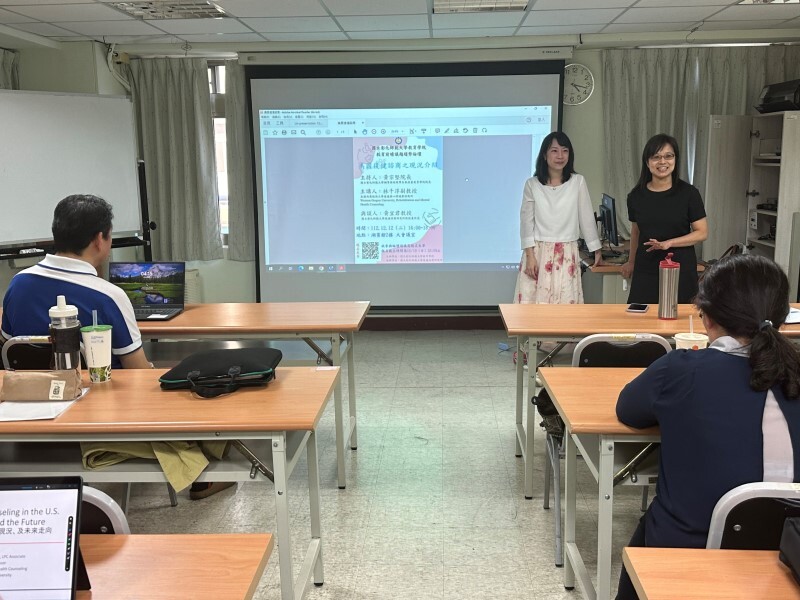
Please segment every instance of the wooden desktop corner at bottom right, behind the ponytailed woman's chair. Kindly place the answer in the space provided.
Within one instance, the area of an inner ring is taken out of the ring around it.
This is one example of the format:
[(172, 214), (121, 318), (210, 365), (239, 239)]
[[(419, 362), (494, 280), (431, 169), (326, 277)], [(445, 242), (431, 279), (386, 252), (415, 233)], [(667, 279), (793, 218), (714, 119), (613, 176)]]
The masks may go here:
[(640, 600), (800, 599), (800, 587), (777, 552), (625, 548), (622, 561)]

